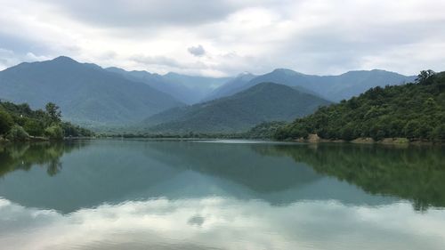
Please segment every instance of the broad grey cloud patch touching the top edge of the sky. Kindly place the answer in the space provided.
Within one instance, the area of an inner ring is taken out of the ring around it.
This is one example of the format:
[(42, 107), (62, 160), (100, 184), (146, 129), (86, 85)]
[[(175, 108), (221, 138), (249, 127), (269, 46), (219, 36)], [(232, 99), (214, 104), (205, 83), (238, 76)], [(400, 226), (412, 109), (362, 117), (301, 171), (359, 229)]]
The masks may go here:
[(107, 27), (189, 26), (222, 20), (239, 8), (225, 0), (46, 0), (78, 20)]

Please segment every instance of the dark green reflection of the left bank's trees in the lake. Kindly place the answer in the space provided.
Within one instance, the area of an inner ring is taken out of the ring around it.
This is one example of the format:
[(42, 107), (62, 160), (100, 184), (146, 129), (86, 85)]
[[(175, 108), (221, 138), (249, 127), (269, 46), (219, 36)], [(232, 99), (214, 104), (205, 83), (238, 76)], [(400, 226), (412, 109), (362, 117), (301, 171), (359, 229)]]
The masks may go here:
[(62, 169), (61, 156), (83, 147), (77, 142), (39, 142), (0, 145), (0, 176), (38, 165), (53, 176)]

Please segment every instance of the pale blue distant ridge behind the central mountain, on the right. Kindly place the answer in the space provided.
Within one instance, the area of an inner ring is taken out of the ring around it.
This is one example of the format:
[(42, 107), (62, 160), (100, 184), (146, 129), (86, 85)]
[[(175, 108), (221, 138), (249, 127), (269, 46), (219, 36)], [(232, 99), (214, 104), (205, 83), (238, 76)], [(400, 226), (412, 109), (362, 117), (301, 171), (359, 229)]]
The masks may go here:
[(275, 69), (248, 81), (239, 80), (238, 85), (223, 85), (207, 96), (206, 100), (229, 96), (259, 83), (272, 82), (299, 87), (301, 91), (316, 93), (330, 101), (341, 101), (359, 95), (371, 87), (401, 85), (415, 79), (416, 77), (380, 69), (349, 71), (339, 76), (305, 75), (291, 69)]

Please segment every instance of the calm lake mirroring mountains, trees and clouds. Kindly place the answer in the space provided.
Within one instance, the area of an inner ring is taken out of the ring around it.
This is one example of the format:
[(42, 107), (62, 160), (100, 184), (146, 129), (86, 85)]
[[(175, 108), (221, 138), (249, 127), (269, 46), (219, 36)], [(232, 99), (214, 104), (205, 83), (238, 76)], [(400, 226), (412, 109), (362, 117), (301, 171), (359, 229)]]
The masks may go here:
[(445, 249), (445, 149), (0, 145), (0, 248)]

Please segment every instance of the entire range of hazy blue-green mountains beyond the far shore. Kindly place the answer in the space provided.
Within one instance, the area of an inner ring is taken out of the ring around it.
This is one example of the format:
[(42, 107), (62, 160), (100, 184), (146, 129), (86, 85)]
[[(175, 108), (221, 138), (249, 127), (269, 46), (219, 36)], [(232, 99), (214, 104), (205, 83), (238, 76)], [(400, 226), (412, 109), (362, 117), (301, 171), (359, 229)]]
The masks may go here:
[[(0, 71), (0, 99), (27, 102), (36, 109), (52, 101), (65, 120), (90, 127), (153, 125), (158, 130), (168, 124), (166, 130), (239, 131), (261, 121), (292, 120), (370, 87), (401, 85), (414, 78), (378, 69), (324, 77), (290, 69), (260, 76), (158, 75), (102, 69), (62, 56)], [(190, 125), (196, 123), (206, 125)]]

